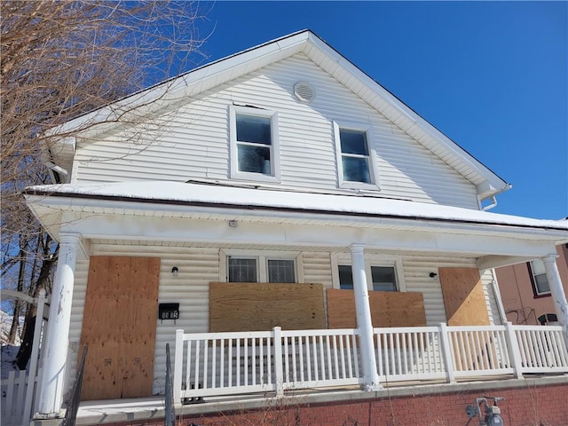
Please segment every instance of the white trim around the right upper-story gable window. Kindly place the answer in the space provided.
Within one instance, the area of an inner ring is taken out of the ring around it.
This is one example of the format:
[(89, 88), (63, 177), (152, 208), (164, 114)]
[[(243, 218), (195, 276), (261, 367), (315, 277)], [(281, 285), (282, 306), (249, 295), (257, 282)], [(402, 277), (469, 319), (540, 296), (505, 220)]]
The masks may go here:
[[(373, 136), (373, 127), (370, 124), (362, 124), (356, 122), (343, 122), (335, 121), (334, 124), (334, 138), (335, 138), (335, 160), (337, 163), (337, 185), (340, 188), (348, 189), (371, 189), (380, 190), (379, 185), (379, 168), (377, 161), (377, 154), (375, 150), (375, 138)], [(364, 182), (351, 182), (343, 180), (343, 162), (342, 162), (342, 151), (341, 151), (341, 138), (339, 136), (339, 130), (356, 130), (364, 131), (367, 133), (367, 149), (369, 151), (369, 173), (371, 175), (371, 184), (366, 184)]]

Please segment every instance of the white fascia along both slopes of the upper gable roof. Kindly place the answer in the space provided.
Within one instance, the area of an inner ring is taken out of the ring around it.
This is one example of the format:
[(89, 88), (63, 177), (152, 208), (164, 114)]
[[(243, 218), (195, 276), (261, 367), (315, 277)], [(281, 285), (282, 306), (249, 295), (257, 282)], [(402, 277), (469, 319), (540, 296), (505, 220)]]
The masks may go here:
[[(383, 103), (392, 106), (400, 114), (399, 116), (389, 117), (388, 111), (385, 111), (385, 108), (382, 109), (386, 113), (387, 118), (393, 121), (396, 120), (401, 130), (406, 131), (416, 139), (425, 137), (434, 144), (443, 146), (445, 150), (456, 156), (459, 162), (469, 169), (475, 170), (480, 175), (480, 181), (487, 182), (491, 188), (494, 188), (489, 193), (480, 193), (483, 194), (483, 198), (508, 189), (507, 183), (501, 177), (496, 176), (493, 171), (487, 169), (481, 162), (478, 162), (465, 152), (461, 146), (455, 144), (454, 141), (422, 119), (420, 115), (416, 114), (390, 91), (384, 89), (380, 83), (377, 83), (373, 78), (361, 71), (359, 67), (356, 67), (351, 61), (344, 58), (341, 53), (335, 51), (333, 47), (320, 39), (319, 36), (308, 30), (261, 44), (225, 59), (219, 59), (185, 75), (180, 75), (130, 95), (109, 106), (84, 114), (51, 131), (65, 134), (70, 131), (89, 128), (82, 136), (92, 138), (112, 129), (121, 122), (129, 122), (129, 115), (133, 117), (131, 122), (136, 122), (137, 119), (139, 121), (140, 117), (146, 114), (155, 113), (172, 103), (177, 103), (177, 101), (194, 96), (201, 91), (209, 90), (218, 84), (226, 83), (272, 62), (287, 58), (298, 51), (304, 51), (308, 57), (319, 62), (313, 56), (315, 53), (314, 49), (323, 53), (327, 58), (333, 59), (337, 66), (343, 69), (344, 73), (347, 73), (346, 75), (354, 76), (375, 97), (382, 99)], [(341, 78), (337, 73), (331, 74), (335, 74), (335, 77), (344, 83), (346, 87), (353, 89), (350, 87), (352, 83), (349, 83), (349, 78)], [(430, 149), (430, 146), (426, 147)]]

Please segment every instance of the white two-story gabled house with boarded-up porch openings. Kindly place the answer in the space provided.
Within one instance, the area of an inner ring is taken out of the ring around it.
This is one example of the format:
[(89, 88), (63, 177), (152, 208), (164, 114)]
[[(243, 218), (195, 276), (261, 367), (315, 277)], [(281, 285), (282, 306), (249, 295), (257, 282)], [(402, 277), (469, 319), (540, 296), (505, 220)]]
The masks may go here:
[[(84, 344), (96, 400), (163, 394), (166, 343), (177, 404), (568, 372), (568, 223), (485, 211), (510, 185), (310, 31), (74, 128), (25, 191), (60, 243), (38, 418)], [(535, 258), (561, 326), (529, 332), (492, 268)]]

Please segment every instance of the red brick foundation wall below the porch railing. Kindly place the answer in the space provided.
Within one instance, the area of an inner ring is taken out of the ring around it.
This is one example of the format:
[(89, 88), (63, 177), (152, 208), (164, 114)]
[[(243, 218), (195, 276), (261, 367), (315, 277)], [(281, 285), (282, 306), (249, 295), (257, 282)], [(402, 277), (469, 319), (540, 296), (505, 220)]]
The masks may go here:
[[(568, 379), (565, 384), (495, 392), (505, 426), (568, 425)], [(381, 398), (357, 402), (268, 406), (262, 410), (216, 414), (185, 414), (179, 426), (478, 426), (468, 422), (466, 406), (474, 405), (483, 391)], [(278, 403), (275, 403), (278, 404)], [(191, 411), (191, 406), (185, 406)], [(162, 422), (123, 422), (114, 426), (163, 426)]]

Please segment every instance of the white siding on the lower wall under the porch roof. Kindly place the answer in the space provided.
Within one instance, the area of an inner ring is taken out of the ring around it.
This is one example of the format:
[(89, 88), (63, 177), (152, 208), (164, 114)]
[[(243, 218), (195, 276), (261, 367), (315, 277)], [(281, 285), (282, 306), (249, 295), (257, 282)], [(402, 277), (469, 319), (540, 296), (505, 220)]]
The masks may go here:
[[(224, 270), (221, 250), (218, 248), (185, 248), (160, 245), (102, 244), (92, 245), (92, 256), (156, 256), (161, 258), (160, 303), (176, 302), (180, 304), (180, 317), (160, 321), (156, 312), (156, 349), (154, 361), (154, 393), (163, 393), (165, 372), (165, 347), (170, 343), (174, 349), (177, 328), (186, 333), (209, 332), (209, 282), (218, 281)], [(334, 255), (335, 256), (335, 255)], [(348, 256), (348, 255), (347, 255)], [(328, 252), (302, 252), (296, 257), (298, 282), (319, 283), (324, 288), (332, 288), (332, 255)], [(439, 256), (400, 256), (402, 264), (401, 278), (403, 291), (421, 292), (424, 297), (426, 321), (429, 326), (446, 322), (446, 311), (442, 290), (438, 278), (430, 278), (430, 272), (438, 267), (475, 267), (475, 259), (446, 258)], [(178, 268), (177, 277), (171, 269)], [(81, 340), (83, 308), (85, 302), (89, 262), (78, 261), (75, 266), (75, 287), (71, 311), (69, 342), (77, 345), (75, 352), (69, 353), (69, 382), (75, 376), (77, 359), (81, 353), (78, 347)], [(400, 273), (400, 272), (398, 272)], [(482, 274), (487, 310), (492, 324), (500, 324), (497, 304), (491, 288), (493, 275), (491, 270)], [(70, 386), (70, 384), (69, 384)]]

